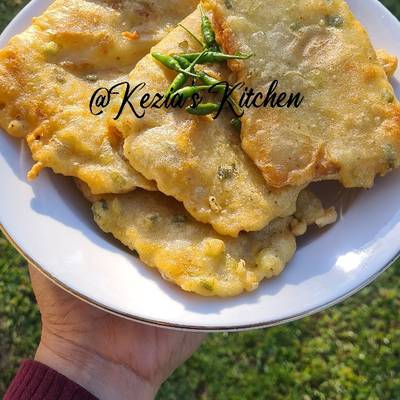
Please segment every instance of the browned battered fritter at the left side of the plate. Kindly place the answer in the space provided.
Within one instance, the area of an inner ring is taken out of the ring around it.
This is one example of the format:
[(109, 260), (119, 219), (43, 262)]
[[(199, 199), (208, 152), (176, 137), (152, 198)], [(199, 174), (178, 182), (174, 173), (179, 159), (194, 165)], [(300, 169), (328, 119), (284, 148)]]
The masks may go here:
[(93, 193), (155, 185), (124, 159), (122, 138), (89, 99), (126, 80), (136, 62), (197, 5), (195, 0), (56, 0), (0, 51), (0, 126), (27, 137), (36, 166), (78, 177)]

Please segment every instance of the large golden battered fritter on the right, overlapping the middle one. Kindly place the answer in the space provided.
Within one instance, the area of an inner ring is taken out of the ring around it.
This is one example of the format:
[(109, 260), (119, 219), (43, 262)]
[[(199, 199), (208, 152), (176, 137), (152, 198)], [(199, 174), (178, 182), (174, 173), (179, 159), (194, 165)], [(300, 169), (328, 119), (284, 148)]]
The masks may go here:
[(274, 187), (338, 179), (369, 188), (400, 164), (400, 106), (368, 35), (343, 0), (207, 0), (239, 80), (304, 96), (300, 108), (255, 108), (243, 148)]

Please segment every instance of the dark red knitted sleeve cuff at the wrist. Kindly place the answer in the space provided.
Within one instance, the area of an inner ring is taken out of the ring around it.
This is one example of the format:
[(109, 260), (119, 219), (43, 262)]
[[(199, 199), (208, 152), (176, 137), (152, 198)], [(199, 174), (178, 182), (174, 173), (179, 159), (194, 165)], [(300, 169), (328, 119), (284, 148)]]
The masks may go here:
[(21, 364), (4, 400), (97, 400), (64, 375), (36, 361)]

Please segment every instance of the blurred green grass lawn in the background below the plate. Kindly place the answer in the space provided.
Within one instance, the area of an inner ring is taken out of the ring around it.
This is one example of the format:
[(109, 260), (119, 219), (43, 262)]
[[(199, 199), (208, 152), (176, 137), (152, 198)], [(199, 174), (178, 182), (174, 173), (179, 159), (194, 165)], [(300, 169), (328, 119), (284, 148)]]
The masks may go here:
[[(163, 0), (164, 1), (164, 0)], [(383, 1), (400, 16), (399, 0)], [(0, 0), (0, 30), (26, 1)], [(210, 335), (160, 400), (399, 400), (400, 265), (344, 304), (283, 327)], [(39, 340), (25, 262), (0, 236), (0, 396)]]

